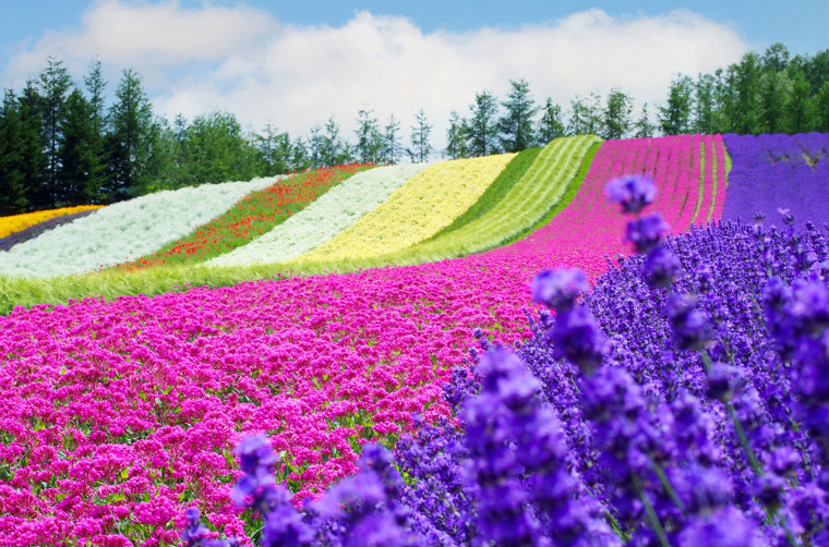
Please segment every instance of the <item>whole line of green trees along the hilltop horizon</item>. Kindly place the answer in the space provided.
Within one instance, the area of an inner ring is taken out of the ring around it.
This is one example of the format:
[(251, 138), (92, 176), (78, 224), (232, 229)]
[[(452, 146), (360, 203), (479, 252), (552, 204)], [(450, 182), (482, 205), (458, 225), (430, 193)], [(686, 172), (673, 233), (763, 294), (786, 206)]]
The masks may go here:
[[(271, 177), (353, 161), (397, 163), (433, 156), (432, 129), (421, 109), (406, 132), (392, 114), (358, 112), (353, 139), (329, 118), (291, 136), (272, 124), (245, 132), (236, 117), (215, 111), (172, 122), (155, 116), (141, 76), (121, 74), (111, 104), (99, 61), (76, 85), (63, 62), (49, 58), (21, 90), (7, 89), (0, 106), (0, 215), (69, 205), (108, 204), (158, 190)], [(446, 158), (520, 151), (564, 135), (608, 139), (657, 133), (829, 132), (829, 50), (792, 57), (774, 44), (746, 53), (713, 74), (677, 75), (665, 104), (634, 117), (634, 99), (614, 88), (576, 96), (567, 117), (548, 97), (537, 104), (525, 80), (509, 81), (498, 100), (474, 94), (450, 113)], [(406, 134), (408, 133), (408, 135)], [(407, 138), (408, 137), (408, 138)]]

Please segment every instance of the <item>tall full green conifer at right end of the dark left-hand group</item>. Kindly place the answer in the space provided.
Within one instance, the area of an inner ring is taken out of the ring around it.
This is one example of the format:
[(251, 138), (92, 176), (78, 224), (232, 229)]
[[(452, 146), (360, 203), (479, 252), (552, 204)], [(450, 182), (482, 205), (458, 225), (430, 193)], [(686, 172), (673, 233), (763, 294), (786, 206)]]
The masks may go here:
[(109, 202), (139, 195), (144, 185), (154, 137), (153, 109), (141, 76), (127, 69), (109, 109), (111, 132), (105, 141), (110, 169), (105, 192)]

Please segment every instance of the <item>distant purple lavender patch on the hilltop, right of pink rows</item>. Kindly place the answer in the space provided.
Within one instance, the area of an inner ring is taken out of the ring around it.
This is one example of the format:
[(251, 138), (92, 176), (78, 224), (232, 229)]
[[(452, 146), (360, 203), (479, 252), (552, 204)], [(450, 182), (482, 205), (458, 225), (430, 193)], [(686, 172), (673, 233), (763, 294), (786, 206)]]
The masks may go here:
[[(778, 218), (789, 209), (802, 223), (829, 222), (829, 134), (724, 135), (733, 167), (723, 220)], [(768, 223), (768, 220), (766, 221)]]

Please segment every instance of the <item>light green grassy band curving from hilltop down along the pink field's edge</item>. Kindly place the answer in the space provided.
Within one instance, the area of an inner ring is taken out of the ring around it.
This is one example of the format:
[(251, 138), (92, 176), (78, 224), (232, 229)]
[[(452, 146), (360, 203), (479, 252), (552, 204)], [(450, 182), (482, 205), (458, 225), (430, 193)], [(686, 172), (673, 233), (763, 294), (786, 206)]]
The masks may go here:
[[(0, 315), (14, 306), (61, 305), (73, 300), (123, 295), (152, 296), (183, 292), (192, 287), (229, 287), (241, 281), (285, 279), (320, 274), (346, 274), (389, 265), (412, 265), (481, 252), (516, 241), (549, 222), (573, 198), (598, 150), (599, 137), (556, 139), (542, 150), (525, 175), (488, 212), (460, 228), (394, 255), (369, 259), (238, 267), (173, 265), (123, 272), (106, 270), (86, 276), (9, 278), (0, 276)], [(544, 199), (539, 196), (548, 197)], [(498, 222), (501, 224), (498, 226)], [(489, 227), (489, 228), (486, 228)], [(484, 229), (484, 231), (480, 231)], [(492, 233), (488, 230), (492, 229)], [(503, 230), (503, 232), (502, 232)], [(496, 233), (497, 232), (497, 233)], [(470, 251), (472, 250), (472, 251)]]

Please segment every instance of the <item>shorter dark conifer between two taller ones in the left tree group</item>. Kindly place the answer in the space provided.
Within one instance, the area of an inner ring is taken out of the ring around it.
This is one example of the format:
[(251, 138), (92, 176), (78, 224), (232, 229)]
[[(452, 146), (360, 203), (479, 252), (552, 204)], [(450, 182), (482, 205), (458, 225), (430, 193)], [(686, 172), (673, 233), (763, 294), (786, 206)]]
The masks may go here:
[(67, 98), (59, 131), (59, 205), (101, 203), (106, 182), (99, 156), (101, 137), (95, 127), (94, 108), (77, 89)]

